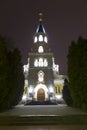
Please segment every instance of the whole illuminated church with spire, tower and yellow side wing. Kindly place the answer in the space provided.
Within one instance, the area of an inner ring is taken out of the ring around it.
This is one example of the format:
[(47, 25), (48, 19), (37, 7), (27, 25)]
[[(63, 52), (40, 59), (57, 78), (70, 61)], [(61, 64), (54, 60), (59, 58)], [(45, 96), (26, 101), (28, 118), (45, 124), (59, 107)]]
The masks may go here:
[(25, 75), (23, 102), (58, 102), (62, 99), (64, 76), (59, 74), (59, 65), (55, 64), (41, 17), (28, 55), (28, 63), (23, 69)]

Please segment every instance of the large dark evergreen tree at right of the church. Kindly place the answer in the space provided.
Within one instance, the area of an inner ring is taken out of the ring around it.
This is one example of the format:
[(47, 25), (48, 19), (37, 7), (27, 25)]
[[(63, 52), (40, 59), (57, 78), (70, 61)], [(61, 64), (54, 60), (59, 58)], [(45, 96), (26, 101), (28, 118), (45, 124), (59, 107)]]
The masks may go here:
[(82, 37), (69, 47), (68, 77), (74, 106), (87, 109), (87, 40)]

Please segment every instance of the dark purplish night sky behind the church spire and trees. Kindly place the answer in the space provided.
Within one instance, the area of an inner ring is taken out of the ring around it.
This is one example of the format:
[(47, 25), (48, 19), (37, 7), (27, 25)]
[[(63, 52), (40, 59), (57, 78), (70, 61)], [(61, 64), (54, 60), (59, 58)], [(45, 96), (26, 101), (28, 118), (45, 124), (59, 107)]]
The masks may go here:
[(67, 73), (68, 46), (78, 36), (87, 38), (87, 0), (0, 0), (0, 33), (21, 50), (23, 64), (33, 44), (38, 13), (60, 73)]

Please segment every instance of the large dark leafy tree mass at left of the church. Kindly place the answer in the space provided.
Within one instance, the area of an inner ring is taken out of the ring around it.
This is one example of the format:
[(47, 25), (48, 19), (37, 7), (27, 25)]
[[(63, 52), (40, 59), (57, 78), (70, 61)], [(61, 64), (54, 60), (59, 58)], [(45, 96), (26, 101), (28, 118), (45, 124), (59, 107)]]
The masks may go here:
[(23, 88), (24, 76), (20, 51), (10, 50), (6, 38), (0, 36), (0, 110), (18, 104)]

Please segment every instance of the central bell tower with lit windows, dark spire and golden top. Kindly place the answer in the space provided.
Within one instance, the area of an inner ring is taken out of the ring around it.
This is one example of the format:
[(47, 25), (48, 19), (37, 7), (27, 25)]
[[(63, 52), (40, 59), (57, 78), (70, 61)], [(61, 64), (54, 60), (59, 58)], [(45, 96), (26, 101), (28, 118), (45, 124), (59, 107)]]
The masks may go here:
[[(44, 98), (41, 97), (40, 92), (44, 94), (42, 96)], [(40, 13), (39, 24), (29, 53), (28, 96), (32, 96), (32, 100), (35, 101), (40, 100), (37, 97), (41, 97), (42, 101), (47, 101), (53, 95), (53, 53), (49, 47), (48, 36), (42, 24), (42, 13)]]

